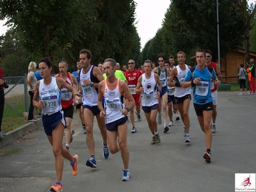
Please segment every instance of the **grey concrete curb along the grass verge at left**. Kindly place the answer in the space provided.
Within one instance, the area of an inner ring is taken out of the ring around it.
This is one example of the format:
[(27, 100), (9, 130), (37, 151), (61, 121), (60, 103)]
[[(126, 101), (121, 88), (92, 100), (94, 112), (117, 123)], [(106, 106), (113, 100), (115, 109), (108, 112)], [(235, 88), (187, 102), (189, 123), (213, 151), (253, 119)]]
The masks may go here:
[(38, 129), (39, 127), (42, 127), (42, 126), (43, 126), (42, 118), (40, 118), (38, 119), (38, 122), (31, 122), (26, 125), (23, 125), (22, 127), (14, 129), (13, 131), (7, 132), (6, 136), (0, 141), (0, 148), (3, 147), (4, 145), (7, 145), (8, 143), (11, 143), (17, 140), (19, 136), (22, 136), (27, 132)]

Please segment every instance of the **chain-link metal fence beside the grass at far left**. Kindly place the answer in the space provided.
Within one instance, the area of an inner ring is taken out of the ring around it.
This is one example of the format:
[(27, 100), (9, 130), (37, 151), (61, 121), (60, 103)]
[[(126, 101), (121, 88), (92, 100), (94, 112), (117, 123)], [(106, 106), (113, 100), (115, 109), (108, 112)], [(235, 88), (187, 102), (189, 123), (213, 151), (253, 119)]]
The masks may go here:
[(13, 113), (17, 113), (19, 116), (22, 116), (22, 113), (29, 109), (26, 78), (27, 74), (24, 74), (24, 76), (4, 77), (9, 86), (4, 90), (4, 107), (11, 109)]

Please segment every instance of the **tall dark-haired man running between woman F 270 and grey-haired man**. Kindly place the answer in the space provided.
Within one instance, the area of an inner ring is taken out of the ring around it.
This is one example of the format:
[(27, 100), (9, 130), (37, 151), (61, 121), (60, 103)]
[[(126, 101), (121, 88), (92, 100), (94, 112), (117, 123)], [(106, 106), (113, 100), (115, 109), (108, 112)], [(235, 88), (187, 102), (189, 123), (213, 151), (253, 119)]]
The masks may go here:
[(100, 111), (97, 106), (98, 87), (100, 81), (104, 80), (102, 73), (98, 67), (94, 67), (90, 64), (92, 60), (92, 52), (88, 49), (82, 49), (79, 52), (81, 72), (80, 72), (80, 87), (83, 91), (83, 108), (84, 108), (84, 120), (86, 125), (86, 143), (90, 152), (90, 159), (86, 161), (86, 166), (96, 168), (95, 160), (95, 141), (93, 138), (93, 120), (94, 116), (97, 118), (100, 133), (103, 139), (103, 156), (105, 159), (109, 156), (107, 132), (105, 127), (105, 121), (100, 118)]

